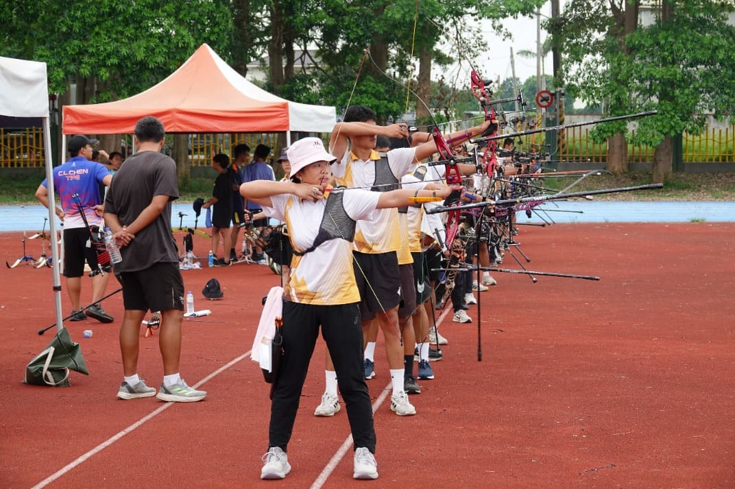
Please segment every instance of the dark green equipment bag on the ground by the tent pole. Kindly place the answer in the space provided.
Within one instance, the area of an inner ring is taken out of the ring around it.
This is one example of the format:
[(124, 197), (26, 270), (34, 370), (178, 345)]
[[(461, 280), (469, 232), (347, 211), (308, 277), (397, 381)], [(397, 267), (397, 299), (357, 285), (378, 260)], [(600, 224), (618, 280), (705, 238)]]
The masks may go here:
[(68, 330), (62, 327), (49, 346), (26, 365), (23, 383), (55, 387), (71, 385), (70, 370), (89, 375), (85, 359), (82, 358), (82, 347), (71, 341)]

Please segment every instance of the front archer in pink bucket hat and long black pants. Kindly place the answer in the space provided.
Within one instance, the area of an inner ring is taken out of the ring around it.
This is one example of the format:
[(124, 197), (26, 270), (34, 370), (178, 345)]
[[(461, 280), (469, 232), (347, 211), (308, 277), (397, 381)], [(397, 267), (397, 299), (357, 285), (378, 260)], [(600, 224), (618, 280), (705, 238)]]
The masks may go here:
[(376, 209), (405, 206), (409, 198), (446, 198), (462, 187), (417, 192), (332, 191), (328, 182), (335, 158), (316, 137), (291, 145), (288, 159), (290, 181), (240, 186), (243, 197), (261, 205), (268, 217), (286, 222), (294, 250), (283, 294), (284, 358), (273, 388), (268, 452), (260, 477), (282, 479), (291, 470), (287, 444), (321, 327), (354, 439), (353, 477), (376, 479), (376, 437), (364, 376), (360, 297), (352, 258), (355, 222), (370, 220)]

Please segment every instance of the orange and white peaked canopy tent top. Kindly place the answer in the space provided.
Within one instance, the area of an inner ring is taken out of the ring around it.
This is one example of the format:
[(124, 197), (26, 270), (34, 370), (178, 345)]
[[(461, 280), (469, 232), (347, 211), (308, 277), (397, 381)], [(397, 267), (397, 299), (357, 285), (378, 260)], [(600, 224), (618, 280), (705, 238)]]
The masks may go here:
[(106, 104), (64, 106), (64, 134), (132, 134), (154, 115), (166, 132), (329, 132), (333, 106), (298, 104), (245, 80), (207, 44), (148, 90)]

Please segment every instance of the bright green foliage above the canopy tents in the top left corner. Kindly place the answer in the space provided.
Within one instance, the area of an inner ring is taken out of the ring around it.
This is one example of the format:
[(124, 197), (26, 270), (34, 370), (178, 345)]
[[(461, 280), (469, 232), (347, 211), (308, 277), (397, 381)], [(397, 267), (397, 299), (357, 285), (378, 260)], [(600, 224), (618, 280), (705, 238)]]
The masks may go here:
[(0, 54), (46, 62), (49, 90), (77, 78), (102, 82), (93, 100), (159, 82), (202, 43), (227, 51), (226, 0), (10, 0)]

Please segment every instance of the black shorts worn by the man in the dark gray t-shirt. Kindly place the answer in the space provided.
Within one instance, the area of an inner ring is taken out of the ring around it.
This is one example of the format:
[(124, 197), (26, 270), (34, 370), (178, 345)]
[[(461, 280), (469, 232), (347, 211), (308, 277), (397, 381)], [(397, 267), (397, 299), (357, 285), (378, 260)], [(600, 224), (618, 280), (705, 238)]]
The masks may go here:
[(184, 279), (178, 263), (157, 263), (120, 275), (126, 311), (184, 311)]

